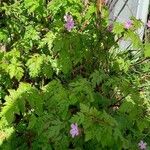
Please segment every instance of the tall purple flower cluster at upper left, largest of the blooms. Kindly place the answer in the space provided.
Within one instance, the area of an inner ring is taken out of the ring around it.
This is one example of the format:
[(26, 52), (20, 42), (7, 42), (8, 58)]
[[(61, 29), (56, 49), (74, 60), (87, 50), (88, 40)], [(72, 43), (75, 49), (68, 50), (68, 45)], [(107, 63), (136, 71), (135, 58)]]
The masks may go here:
[(70, 32), (73, 28), (74, 28), (74, 20), (73, 17), (69, 14), (66, 14), (64, 16), (64, 20), (65, 20), (65, 28)]

